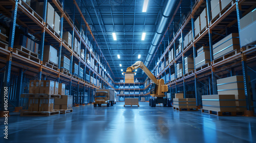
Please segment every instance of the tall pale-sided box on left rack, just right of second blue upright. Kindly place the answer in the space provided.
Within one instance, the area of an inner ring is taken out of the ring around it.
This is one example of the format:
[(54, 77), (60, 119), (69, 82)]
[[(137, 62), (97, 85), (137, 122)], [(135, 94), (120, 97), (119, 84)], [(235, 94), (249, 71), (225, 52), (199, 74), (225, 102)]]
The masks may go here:
[(51, 45), (44, 46), (44, 62), (53, 62), (58, 64), (58, 51)]

